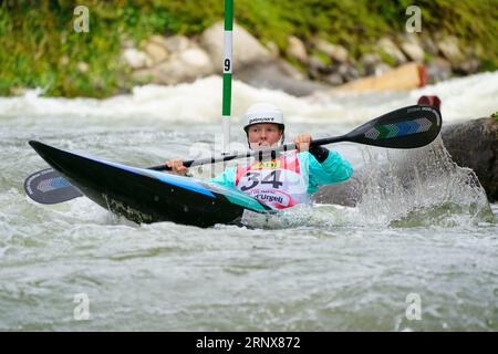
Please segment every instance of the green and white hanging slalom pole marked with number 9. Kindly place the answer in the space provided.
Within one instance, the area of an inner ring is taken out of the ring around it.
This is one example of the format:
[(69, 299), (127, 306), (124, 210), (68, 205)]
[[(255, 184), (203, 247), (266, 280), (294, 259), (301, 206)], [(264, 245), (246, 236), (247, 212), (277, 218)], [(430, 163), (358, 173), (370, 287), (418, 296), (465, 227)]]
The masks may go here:
[(227, 155), (230, 144), (230, 116), (231, 116), (231, 46), (234, 29), (234, 0), (225, 0), (225, 55), (224, 55), (224, 98), (222, 98), (222, 154)]

